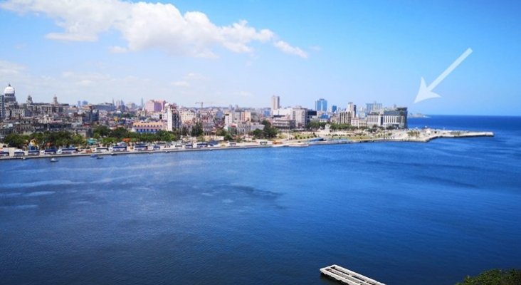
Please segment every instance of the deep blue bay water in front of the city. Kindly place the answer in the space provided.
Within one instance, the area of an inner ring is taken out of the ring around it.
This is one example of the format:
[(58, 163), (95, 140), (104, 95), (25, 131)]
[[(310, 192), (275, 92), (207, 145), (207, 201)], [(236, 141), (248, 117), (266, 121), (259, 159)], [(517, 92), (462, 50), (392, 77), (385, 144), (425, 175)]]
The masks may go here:
[(0, 162), (1, 284), (454, 284), (521, 267), (521, 118), (494, 138)]

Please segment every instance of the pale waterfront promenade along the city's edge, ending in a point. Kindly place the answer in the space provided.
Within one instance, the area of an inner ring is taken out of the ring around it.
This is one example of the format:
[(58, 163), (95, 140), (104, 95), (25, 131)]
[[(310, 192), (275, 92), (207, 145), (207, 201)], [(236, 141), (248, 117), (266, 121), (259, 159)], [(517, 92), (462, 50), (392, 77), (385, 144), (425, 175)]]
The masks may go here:
[[(205, 147), (160, 147), (159, 149), (147, 149), (147, 150), (134, 150), (128, 149), (125, 151), (102, 151), (96, 152), (93, 150), (83, 150), (75, 153), (68, 154), (40, 154), (40, 155), (27, 155), (23, 152), (23, 155), (14, 155), (15, 149), (9, 147), (9, 156), (0, 157), (0, 160), (21, 160), (21, 159), (32, 159), (32, 158), (53, 158), (53, 157), (78, 157), (92, 155), (131, 155), (131, 154), (153, 154), (157, 152), (184, 152), (184, 151), (211, 151), (211, 150), (238, 150), (245, 148), (265, 148), (265, 147), (308, 147), (312, 145), (337, 145), (337, 144), (348, 144), (357, 142), (429, 142), (437, 138), (474, 138), (474, 137), (493, 137), (492, 132), (470, 132), (463, 130), (399, 130), (395, 131), (389, 136), (383, 138), (361, 138), (361, 139), (329, 139), (323, 138), (323, 140), (282, 140), (278, 144), (273, 142), (260, 143), (260, 142), (238, 142), (235, 145), (228, 145), (227, 143), (221, 143), (214, 146)], [(263, 141), (265, 142), (265, 141)], [(194, 144), (196, 145), (196, 144)], [(4, 150), (5, 151), (5, 150)]]

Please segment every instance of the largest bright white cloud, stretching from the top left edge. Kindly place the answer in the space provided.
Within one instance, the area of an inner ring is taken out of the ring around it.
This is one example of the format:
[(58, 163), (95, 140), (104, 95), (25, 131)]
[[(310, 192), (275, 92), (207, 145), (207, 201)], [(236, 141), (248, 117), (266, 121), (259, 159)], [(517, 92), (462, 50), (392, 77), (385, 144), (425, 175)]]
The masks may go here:
[(307, 58), (305, 51), (279, 41), (268, 29), (258, 30), (248, 26), (247, 21), (216, 26), (206, 14), (198, 11), (181, 14), (172, 4), (122, 0), (8, 0), (0, 7), (53, 19), (63, 28), (63, 32), (46, 35), (53, 40), (97, 41), (100, 33), (119, 31), (127, 47), (125, 50), (111, 47), (111, 52), (158, 48), (177, 55), (212, 58), (216, 57), (214, 48), (219, 46), (236, 53), (252, 53), (252, 43), (273, 42), (285, 53)]

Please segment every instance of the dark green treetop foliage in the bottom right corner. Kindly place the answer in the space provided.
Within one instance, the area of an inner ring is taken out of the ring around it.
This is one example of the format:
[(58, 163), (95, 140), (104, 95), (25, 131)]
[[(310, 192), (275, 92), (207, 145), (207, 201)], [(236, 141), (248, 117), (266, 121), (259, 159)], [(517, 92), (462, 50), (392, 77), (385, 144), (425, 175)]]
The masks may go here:
[(521, 285), (521, 270), (491, 269), (478, 276), (467, 276), (456, 285)]

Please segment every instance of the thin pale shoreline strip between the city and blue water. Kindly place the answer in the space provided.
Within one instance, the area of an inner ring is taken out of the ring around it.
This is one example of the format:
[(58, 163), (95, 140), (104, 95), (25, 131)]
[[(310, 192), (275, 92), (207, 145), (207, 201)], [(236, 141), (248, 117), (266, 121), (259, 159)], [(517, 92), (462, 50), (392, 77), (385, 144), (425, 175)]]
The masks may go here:
[(285, 141), (280, 145), (260, 145), (258, 142), (239, 142), (236, 146), (219, 146), (219, 147), (194, 147), (194, 148), (176, 148), (169, 147), (161, 150), (125, 150), (125, 151), (112, 151), (112, 152), (90, 152), (90, 153), (71, 153), (71, 154), (56, 154), (56, 155), (23, 155), (23, 156), (9, 156), (0, 157), (2, 160), (28, 160), (28, 159), (51, 159), (59, 157), (91, 157), (96, 156), (114, 156), (114, 155), (144, 155), (154, 153), (170, 153), (170, 152), (190, 152), (190, 151), (214, 151), (214, 150), (244, 150), (251, 148), (271, 148), (271, 147), (310, 147), (314, 145), (343, 145), (349, 143), (367, 143), (367, 142), (430, 142), (438, 138), (478, 138), (478, 137), (493, 137), (493, 132), (471, 132), (461, 130), (431, 130), (431, 133), (422, 131), (416, 137), (404, 137), (403, 132), (398, 133), (399, 135), (391, 138), (367, 138), (359, 140), (350, 139), (331, 139), (317, 142), (310, 142), (308, 140), (292, 140)]

